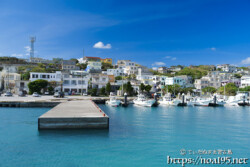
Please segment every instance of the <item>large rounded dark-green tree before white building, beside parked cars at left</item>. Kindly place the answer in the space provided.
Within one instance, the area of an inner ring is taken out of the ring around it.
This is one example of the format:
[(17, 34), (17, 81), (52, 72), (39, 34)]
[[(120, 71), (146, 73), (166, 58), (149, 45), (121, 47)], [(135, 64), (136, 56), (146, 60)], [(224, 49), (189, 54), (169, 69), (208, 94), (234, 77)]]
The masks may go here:
[(41, 94), (41, 90), (46, 88), (47, 86), (48, 86), (48, 81), (42, 80), (42, 79), (38, 79), (33, 82), (30, 82), (28, 84), (29, 94), (32, 94), (34, 92)]

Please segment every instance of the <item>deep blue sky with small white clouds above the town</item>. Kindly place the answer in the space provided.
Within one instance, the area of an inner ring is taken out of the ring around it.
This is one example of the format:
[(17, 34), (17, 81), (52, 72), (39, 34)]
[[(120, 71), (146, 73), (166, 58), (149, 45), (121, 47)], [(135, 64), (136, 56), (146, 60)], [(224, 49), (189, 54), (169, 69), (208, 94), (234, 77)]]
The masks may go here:
[[(0, 56), (250, 65), (248, 0), (0, 0)], [(98, 43), (99, 42), (99, 43)], [(95, 45), (96, 44), (96, 45)], [(94, 47), (96, 46), (96, 47)]]

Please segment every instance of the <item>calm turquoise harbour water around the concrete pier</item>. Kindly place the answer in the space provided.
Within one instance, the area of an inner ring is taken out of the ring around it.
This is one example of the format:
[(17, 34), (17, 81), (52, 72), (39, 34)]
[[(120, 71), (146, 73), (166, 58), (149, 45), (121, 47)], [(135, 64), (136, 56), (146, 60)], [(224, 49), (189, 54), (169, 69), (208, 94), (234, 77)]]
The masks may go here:
[(0, 108), (0, 166), (181, 166), (168, 165), (167, 155), (196, 156), (180, 149), (231, 149), (232, 157), (250, 158), (249, 107), (100, 107), (109, 130), (39, 132), (37, 118), (49, 108)]

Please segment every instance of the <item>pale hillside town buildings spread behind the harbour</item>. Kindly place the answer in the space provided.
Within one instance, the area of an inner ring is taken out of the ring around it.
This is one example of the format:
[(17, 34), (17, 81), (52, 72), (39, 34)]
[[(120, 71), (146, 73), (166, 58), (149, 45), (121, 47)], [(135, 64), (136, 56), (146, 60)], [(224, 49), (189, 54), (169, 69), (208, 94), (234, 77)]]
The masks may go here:
[[(118, 60), (115, 64), (111, 58), (85, 56), (83, 63), (86, 63), (86, 69), (84, 70), (80, 70), (79, 65), (73, 59), (38, 60), (41, 59), (34, 58), (33, 63), (29, 62), (29, 64), (0, 63), (0, 91), (28, 92), (28, 83), (38, 79), (53, 83), (54, 91), (63, 91), (69, 94), (87, 93), (88, 89), (92, 88), (101, 89), (107, 83), (111, 83), (112, 90), (118, 91), (128, 81), (131, 82), (135, 91), (139, 91), (139, 86), (143, 83), (151, 85), (152, 92), (174, 84), (178, 84), (182, 88), (194, 88), (200, 92), (205, 87), (211, 86), (218, 89), (227, 83), (234, 83), (240, 88), (250, 86), (250, 70), (239, 69), (228, 64), (218, 65), (216, 67), (217, 71), (210, 71), (206, 76), (196, 79), (187, 75), (176, 75), (176, 72), (182, 70), (182, 66), (159, 67), (157, 72), (162, 75), (154, 75), (149, 68), (131, 60)], [(20, 66), (29, 66), (31, 64), (37, 66), (37, 63), (41, 64), (42, 62), (45, 68), (53, 68), (53, 66), (49, 65), (49, 63), (53, 63), (57, 65), (58, 69), (54, 72), (30, 72), (28, 80), (22, 78), (22, 73), (25, 71), (20, 72)], [(102, 70), (103, 63), (110, 64), (110, 68)], [(235, 74), (242, 77), (235, 78)]]

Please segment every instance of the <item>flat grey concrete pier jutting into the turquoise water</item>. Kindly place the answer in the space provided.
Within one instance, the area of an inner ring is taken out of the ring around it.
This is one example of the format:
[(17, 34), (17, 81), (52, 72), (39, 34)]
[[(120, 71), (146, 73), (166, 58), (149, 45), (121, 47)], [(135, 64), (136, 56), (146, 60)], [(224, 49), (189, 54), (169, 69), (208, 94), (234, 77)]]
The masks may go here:
[(109, 117), (91, 100), (68, 101), (38, 118), (38, 129), (109, 128)]

